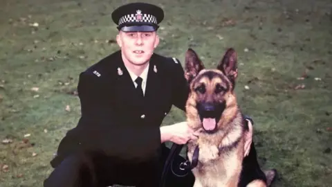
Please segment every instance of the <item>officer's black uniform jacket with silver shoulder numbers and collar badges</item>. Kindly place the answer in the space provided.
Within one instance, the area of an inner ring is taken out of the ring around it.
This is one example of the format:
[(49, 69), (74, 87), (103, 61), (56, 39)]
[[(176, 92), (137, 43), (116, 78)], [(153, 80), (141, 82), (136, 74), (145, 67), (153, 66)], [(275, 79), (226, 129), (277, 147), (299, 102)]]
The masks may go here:
[(176, 58), (154, 53), (149, 63), (144, 100), (136, 94), (120, 51), (80, 74), (82, 117), (60, 142), (53, 168), (77, 151), (102, 152), (129, 163), (160, 157), (160, 124), (172, 105), (185, 110), (189, 89)]

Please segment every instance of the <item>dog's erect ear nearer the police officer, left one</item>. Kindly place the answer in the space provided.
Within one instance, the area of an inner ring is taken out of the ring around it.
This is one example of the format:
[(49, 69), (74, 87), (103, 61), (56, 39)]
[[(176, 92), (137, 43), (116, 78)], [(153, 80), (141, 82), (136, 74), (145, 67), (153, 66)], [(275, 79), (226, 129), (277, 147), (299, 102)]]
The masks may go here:
[(185, 78), (187, 82), (191, 82), (202, 69), (204, 69), (204, 65), (199, 56), (192, 48), (188, 48), (187, 53), (185, 53)]

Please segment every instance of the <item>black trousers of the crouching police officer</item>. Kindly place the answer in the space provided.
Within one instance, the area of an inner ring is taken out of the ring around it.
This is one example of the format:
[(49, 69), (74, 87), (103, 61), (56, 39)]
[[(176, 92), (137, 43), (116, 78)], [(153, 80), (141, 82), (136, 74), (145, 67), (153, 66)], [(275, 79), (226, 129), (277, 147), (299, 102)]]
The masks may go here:
[[(169, 148), (163, 146), (162, 157), (158, 162), (141, 163), (132, 166), (126, 163), (114, 163), (109, 157), (100, 154), (73, 154), (66, 157), (44, 181), (44, 187), (106, 187), (122, 186), (158, 187), (161, 172)], [(184, 158), (177, 155), (174, 163)], [(169, 170), (165, 187), (192, 187), (194, 175), (189, 172), (185, 177), (177, 177)]]

